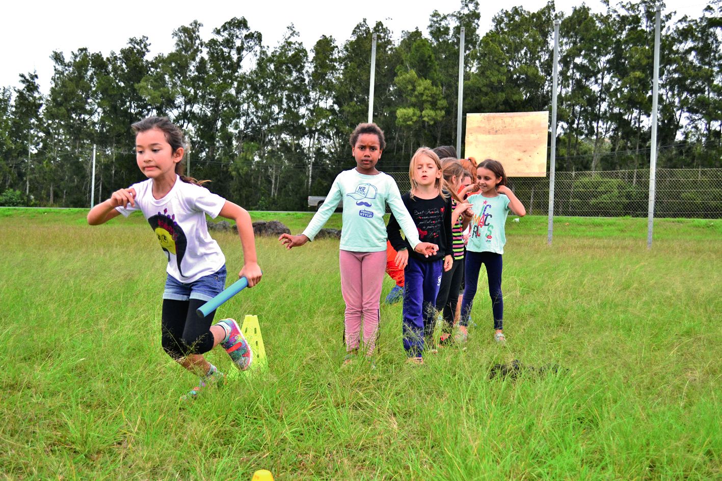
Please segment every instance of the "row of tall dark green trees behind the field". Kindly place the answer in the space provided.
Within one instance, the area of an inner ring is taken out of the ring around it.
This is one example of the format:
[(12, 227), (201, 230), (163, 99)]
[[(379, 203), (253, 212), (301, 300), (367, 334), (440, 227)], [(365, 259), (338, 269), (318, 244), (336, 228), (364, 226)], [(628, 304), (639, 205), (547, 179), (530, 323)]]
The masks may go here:
[[(394, 34), (359, 22), (348, 40), (307, 50), (293, 25), (275, 46), (243, 18), (201, 37), (191, 22), (170, 53), (147, 37), (108, 56), (53, 52), (47, 94), (38, 76), (0, 91), (0, 203), (88, 206), (143, 178), (130, 124), (168, 115), (188, 135), (190, 173), (248, 208), (297, 210), (354, 165), (349, 133), (367, 120), (372, 34), (378, 35), (373, 120), (388, 146), (379, 167), (404, 171), (418, 146), (456, 145), (458, 45), (465, 27), (462, 112), (551, 110), (554, 19), (560, 19), (557, 169), (649, 166), (656, 4), (606, 12), (553, 1), (502, 9), (479, 34), (477, 0)], [(664, 12), (664, 10), (663, 10)], [(662, 16), (658, 167), (720, 167), (722, 6), (698, 18)], [(27, 194), (27, 195), (26, 195)]]

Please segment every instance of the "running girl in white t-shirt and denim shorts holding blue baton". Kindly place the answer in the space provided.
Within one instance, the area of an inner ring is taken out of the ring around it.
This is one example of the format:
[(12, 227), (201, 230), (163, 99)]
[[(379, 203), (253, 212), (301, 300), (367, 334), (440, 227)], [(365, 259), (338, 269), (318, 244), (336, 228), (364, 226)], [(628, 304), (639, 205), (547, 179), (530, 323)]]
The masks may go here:
[(221, 344), (241, 371), (253, 360), (238, 324), (223, 319), (212, 325), (215, 312), (203, 319), (196, 309), (225, 288), (225, 256), (208, 234), (206, 214), (236, 221), (243, 244), (243, 269), (239, 277), (248, 287), (261, 281), (256, 262), (256, 244), (248, 212), (235, 203), (209, 192), (191, 177), (181, 175), (184, 146), (180, 128), (165, 117), (149, 117), (132, 125), (136, 133), (136, 161), (148, 177), (127, 189), (117, 190), (90, 210), (88, 224), (97, 226), (119, 214), (142, 211), (168, 256), (168, 277), (163, 292), (161, 344), (168, 356), (201, 378), (198, 386), (183, 396), (195, 398), (206, 386), (225, 378), (203, 353)]

